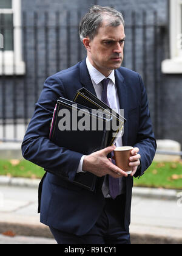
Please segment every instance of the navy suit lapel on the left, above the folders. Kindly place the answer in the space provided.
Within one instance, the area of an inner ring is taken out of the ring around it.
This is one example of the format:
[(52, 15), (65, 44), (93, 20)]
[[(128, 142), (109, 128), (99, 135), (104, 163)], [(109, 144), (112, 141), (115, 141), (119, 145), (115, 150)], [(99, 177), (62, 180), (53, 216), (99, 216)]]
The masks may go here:
[(96, 92), (93, 87), (92, 80), (90, 79), (89, 71), (87, 69), (86, 59), (84, 59), (83, 62), (80, 63), (79, 72), (80, 72), (80, 81), (83, 87), (85, 87), (87, 90), (90, 91), (90, 93), (93, 93), (96, 96)]

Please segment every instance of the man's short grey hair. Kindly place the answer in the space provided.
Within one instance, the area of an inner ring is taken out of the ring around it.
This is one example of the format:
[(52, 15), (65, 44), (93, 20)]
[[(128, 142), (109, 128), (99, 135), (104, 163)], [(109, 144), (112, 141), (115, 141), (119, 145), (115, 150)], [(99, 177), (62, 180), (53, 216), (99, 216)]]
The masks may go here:
[(80, 40), (83, 42), (84, 37), (89, 37), (90, 40), (93, 40), (99, 27), (102, 26), (103, 20), (108, 21), (108, 26), (116, 27), (121, 24), (124, 26), (124, 18), (121, 12), (108, 6), (93, 5), (79, 24)]

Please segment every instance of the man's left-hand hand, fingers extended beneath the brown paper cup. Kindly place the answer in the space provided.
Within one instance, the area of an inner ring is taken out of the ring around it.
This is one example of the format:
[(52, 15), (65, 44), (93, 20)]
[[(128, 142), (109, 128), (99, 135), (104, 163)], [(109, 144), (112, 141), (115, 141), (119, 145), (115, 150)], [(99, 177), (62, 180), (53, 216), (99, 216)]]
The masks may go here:
[(86, 155), (83, 160), (83, 171), (89, 171), (98, 177), (109, 174), (113, 178), (127, 177), (125, 171), (114, 165), (107, 155), (112, 152), (116, 147), (110, 146), (100, 151), (96, 151), (90, 155)]

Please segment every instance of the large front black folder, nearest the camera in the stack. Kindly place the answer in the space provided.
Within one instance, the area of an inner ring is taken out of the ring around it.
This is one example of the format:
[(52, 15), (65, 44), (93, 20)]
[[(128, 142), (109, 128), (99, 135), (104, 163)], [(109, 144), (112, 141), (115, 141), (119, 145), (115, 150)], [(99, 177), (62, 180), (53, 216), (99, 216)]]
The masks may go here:
[[(74, 121), (75, 117), (76, 121)], [(79, 122), (82, 124), (82, 118), (85, 118), (89, 122), (90, 127), (81, 126), (83, 130), (80, 130), (78, 129), (80, 127), (75, 127), (75, 124), (77, 123), (79, 125)], [(59, 98), (53, 113), (49, 139), (60, 147), (89, 155), (92, 152), (106, 148), (110, 133), (106, 127), (110, 121), (111, 118), (107, 114), (103, 115), (103, 113), (99, 114), (97, 112), (97, 115), (95, 115), (89, 107)], [(92, 129), (93, 122), (94, 129)], [(50, 170), (45, 171), (51, 172)], [(64, 176), (62, 178), (67, 179)], [(79, 172), (76, 174), (75, 180), (72, 183), (94, 191), (96, 179), (97, 177), (91, 172)]]

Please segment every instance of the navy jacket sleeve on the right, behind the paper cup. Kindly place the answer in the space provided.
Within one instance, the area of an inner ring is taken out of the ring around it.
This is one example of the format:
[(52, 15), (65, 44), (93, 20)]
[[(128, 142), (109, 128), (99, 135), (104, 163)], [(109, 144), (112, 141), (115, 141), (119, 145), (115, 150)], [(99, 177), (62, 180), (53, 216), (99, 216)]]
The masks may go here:
[(144, 88), (143, 81), (139, 74), (138, 76), (141, 88), (140, 124), (136, 138), (136, 144), (134, 147), (138, 147), (140, 149), (139, 154), (141, 155), (141, 165), (137, 169), (134, 177), (143, 175), (144, 171), (149, 168), (157, 148), (156, 140), (152, 130), (152, 122), (150, 119), (146, 89)]

